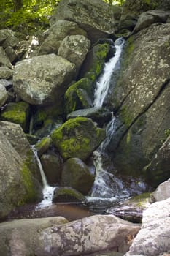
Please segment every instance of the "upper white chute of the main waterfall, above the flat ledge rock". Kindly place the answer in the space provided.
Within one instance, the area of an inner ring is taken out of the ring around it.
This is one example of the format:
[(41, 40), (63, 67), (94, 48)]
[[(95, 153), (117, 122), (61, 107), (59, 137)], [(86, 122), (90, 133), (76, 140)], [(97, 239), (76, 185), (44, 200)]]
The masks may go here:
[(115, 41), (115, 56), (113, 56), (107, 63), (104, 64), (104, 72), (96, 83), (96, 90), (94, 92), (94, 106), (102, 107), (104, 99), (109, 91), (109, 84), (117, 63), (120, 60), (120, 55), (123, 50), (124, 40), (122, 37)]

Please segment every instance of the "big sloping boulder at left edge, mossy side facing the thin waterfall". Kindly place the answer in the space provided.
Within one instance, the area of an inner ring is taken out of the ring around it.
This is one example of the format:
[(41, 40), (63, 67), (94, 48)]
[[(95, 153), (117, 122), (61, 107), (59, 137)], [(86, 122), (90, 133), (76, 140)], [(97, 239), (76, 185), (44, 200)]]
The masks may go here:
[(12, 209), (38, 199), (31, 171), (18, 152), (0, 132), (0, 218)]

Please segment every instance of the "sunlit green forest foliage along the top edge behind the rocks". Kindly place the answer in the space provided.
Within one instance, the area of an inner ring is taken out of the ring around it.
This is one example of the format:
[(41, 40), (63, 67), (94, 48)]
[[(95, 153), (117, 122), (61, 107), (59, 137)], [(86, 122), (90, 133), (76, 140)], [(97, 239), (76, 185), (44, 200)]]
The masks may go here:
[[(12, 29), (24, 34), (41, 33), (61, 0), (0, 0), (0, 29)], [(122, 5), (125, 0), (103, 0)]]

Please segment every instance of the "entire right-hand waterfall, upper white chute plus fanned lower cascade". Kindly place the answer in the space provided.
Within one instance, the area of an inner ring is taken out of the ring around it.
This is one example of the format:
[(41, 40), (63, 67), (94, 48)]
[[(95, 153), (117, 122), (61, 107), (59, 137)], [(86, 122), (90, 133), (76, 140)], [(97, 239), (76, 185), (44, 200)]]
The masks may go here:
[[(94, 106), (102, 107), (105, 97), (109, 91), (110, 80), (112, 73), (119, 64), (120, 56), (123, 50), (124, 40), (119, 38), (115, 41), (115, 56), (112, 57), (104, 66), (104, 72), (96, 83), (96, 90), (94, 94)], [(101, 146), (93, 153), (94, 165), (96, 167), (96, 178), (93, 184), (90, 197), (87, 197), (88, 203), (90, 202), (104, 202), (107, 203), (118, 201), (123, 197), (128, 197), (128, 191), (123, 185), (123, 181), (115, 177), (112, 173), (104, 170), (104, 150), (107, 147), (113, 133), (115, 132), (115, 117), (107, 125), (106, 133), (107, 137), (101, 143)]]

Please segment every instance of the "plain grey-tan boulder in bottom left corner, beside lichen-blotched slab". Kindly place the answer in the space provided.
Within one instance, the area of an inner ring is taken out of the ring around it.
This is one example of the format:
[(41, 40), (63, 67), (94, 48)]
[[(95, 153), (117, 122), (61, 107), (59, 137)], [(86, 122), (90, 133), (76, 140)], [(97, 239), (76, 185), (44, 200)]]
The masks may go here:
[[(3, 256), (31, 255), (32, 252), (42, 244), (42, 242), (38, 240), (39, 230), (45, 230), (47, 227), (53, 227), (53, 225), (58, 226), (65, 223), (67, 223), (67, 220), (63, 217), (20, 219), (1, 223), (0, 254)], [(7, 241), (7, 244), (5, 241)], [(45, 255), (45, 252), (43, 252), (42, 255)]]

